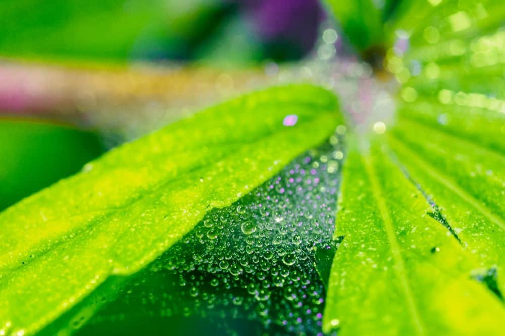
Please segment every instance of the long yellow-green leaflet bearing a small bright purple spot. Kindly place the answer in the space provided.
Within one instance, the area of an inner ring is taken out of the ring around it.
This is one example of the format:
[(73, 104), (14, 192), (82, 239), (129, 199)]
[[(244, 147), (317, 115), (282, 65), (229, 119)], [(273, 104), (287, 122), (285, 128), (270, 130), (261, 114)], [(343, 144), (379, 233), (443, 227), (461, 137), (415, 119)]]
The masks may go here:
[(129, 275), (341, 123), (321, 88), (276, 87), (117, 148), (0, 214), (0, 330), (31, 334)]

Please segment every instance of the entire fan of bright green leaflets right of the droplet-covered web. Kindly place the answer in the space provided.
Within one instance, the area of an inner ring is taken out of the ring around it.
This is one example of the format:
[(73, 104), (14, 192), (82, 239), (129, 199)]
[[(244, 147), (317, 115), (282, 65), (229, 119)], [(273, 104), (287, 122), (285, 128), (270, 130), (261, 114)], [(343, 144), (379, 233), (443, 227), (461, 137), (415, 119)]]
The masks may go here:
[(325, 331), (505, 333), (503, 11), (403, 0), (381, 27), (396, 115), (344, 164)]

